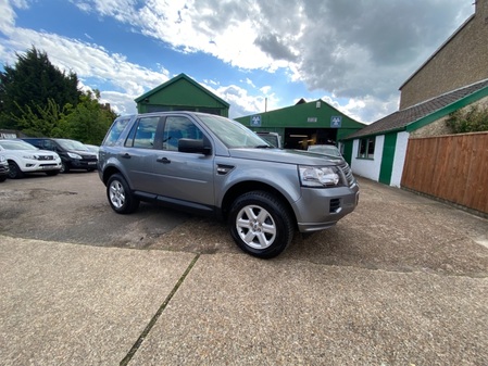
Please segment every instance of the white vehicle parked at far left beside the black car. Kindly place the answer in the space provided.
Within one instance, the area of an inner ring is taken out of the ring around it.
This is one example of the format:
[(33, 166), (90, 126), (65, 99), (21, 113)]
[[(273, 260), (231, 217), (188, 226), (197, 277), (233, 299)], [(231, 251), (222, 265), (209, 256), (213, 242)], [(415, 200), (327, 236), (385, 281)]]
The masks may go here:
[(39, 150), (22, 140), (0, 140), (0, 152), (9, 163), (9, 178), (22, 178), (26, 173), (60, 173), (61, 159), (48, 150)]

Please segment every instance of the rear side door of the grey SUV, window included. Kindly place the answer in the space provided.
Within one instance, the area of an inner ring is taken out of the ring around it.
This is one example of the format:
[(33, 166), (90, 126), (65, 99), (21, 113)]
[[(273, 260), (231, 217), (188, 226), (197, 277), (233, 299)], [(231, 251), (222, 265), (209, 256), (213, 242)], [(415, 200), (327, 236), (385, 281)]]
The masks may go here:
[(136, 121), (120, 152), (128, 181), (132, 188), (139, 192), (154, 193), (152, 191), (154, 187), (152, 168), (157, 159), (154, 137), (160, 121), (160, 116), (145, 116)]

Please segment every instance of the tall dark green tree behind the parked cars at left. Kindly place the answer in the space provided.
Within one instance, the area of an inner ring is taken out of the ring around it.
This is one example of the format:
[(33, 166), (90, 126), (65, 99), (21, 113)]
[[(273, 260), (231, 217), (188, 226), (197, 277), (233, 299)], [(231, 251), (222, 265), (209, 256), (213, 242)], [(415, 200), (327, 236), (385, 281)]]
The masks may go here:
[(75, 73), (61, 72), (35, 47), (16, 56), (14, 66), (4, 65), (0, 72), (0, 127), (18, 129), (26, 111), (42, 118), (40, 111), (50, 109), (50, 103), (58, 109), (77, 105), (80, 91)]

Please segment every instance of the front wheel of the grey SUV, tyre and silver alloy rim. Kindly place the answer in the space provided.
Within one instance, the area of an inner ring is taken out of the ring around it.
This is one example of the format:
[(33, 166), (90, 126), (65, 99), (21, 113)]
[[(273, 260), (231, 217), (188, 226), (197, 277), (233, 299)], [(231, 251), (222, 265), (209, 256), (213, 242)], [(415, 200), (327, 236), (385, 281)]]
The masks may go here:
[(289, 211), (265, 191), (251, 191), (237, 198), (230, 209), (229, 224), (237, 245), (260, 258), (278, 255), (293, 238)]

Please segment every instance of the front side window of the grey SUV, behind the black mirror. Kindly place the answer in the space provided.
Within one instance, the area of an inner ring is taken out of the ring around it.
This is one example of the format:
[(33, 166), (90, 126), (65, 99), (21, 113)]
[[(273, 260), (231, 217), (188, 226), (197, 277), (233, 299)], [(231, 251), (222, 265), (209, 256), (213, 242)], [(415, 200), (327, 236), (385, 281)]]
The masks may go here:
[(202, 131), (185, 116), (168, 116), (164, 124), (162, 149), (178, 150), (178, 141), (182, 138), (201, 140)]

